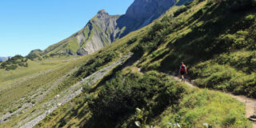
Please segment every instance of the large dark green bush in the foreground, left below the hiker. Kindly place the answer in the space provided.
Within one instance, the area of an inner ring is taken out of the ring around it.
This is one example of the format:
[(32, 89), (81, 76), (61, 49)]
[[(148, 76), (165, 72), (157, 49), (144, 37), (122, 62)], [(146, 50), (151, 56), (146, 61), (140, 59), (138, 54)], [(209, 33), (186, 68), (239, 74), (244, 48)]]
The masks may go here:
[[(166, 106), (176, 103), (184, 91), (182, 86), (174, 85), (164, 74), (156, 71), (141, 77), (117, 73), (114, 79), (102, 86), (98, 98), (90, 102), (89, 107), (94, 122), (101, 121), (102, 127), (114, 127), (122, 117), (134, 114), (137, 107), (147, 108), (147, 117), (160, 114)], [(148, 104), (150, 101), (155, 103)], [(134, 122), (129, 122), (128, 126), (134, 127)]]

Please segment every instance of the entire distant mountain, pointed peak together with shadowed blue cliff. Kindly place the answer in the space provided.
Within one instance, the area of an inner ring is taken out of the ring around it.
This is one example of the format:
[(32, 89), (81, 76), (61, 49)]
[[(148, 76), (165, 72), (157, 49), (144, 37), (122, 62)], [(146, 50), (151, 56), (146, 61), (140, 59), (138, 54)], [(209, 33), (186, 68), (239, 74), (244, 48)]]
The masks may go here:
[(153, 22), (175, 3), (176, 0), (135, 0), (123, 15), (110, 15), (105, 10), (100, 10), (82, 30), (46, 50), (37, 50), (36, 53), (92, 54), (131, 31)]

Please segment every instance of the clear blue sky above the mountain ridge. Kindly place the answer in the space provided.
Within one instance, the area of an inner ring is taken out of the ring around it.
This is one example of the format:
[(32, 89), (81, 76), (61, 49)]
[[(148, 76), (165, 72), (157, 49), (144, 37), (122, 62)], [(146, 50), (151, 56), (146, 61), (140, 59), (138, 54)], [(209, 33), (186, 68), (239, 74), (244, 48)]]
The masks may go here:
[(125, 14), (134, 0), (2, 0), (0, 57), (46, 49), (86, 26), (98, 10)]

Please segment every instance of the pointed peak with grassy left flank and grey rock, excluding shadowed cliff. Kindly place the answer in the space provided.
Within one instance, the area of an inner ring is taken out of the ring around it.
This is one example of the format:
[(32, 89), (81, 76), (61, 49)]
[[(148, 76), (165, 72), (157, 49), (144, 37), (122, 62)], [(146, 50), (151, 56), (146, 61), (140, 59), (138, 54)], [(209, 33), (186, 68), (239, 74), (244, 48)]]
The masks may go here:
[(116, 21), (119, 17), (106, 13), (106, 10), (100, 10), (82, 30), (62, 42), (49, 46), (43, 54), (92, 54), (118, 38), (120, 30), (116, 28)]

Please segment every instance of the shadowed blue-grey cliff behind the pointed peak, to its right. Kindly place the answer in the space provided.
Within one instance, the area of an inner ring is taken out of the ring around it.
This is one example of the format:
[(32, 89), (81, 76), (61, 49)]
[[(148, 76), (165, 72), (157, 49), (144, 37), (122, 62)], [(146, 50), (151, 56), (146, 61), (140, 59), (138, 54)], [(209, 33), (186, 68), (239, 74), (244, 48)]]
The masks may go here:
[(150, 24), (154, 19), (164, 14), (166, 10), (169, 10), (171, 6), (174, 6), (175, 3), (176, 0), (135, 0), (126, 14), (118, 19), (119, 27), (126, 26), (122, 36)]

